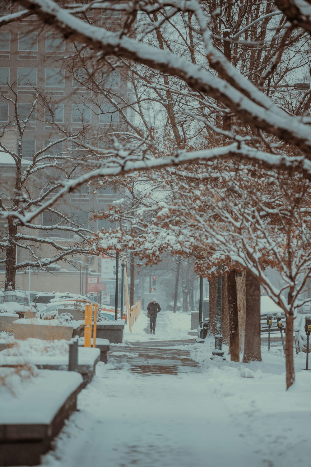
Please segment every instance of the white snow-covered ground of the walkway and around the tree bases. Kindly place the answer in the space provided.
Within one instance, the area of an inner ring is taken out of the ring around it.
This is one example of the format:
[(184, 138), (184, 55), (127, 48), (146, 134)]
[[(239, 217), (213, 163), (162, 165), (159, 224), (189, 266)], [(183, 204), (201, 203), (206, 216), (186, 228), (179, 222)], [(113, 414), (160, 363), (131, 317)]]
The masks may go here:
[[(125, 341), (185, 339), (190, 313), (161, 312), (155, 336), (142, 312)], [(146, 331), (145, 331), (146, 330)], [(129, 345), (124, 345), (124, 351)], [(211, 361), (214, 340), (186, 345), (200, 362), (178, 375), (141, 375), (97, 364), (74, 413), (42, 459), (47, 467), (311, 466), (311, 372), (285, 391), (282, 347), (263, 362)], [(176, 347), (174, 347), (176, 348)], [(225, 354), (228, 354), (228, 347)], [(119, 365), (120, 367), (120, 365)], [(184, 368), (185, 370), (185, 368)]]

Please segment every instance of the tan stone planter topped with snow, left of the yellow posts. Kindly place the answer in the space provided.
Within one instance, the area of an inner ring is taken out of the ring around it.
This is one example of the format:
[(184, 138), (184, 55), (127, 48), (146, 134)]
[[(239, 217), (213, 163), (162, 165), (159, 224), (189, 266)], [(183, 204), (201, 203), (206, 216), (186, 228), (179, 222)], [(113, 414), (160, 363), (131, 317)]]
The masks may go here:
[(46, 320), (46, 323), (36, 324), (35, 319), (19, 319), (14, 321), (14, 339), (28, 339), (32, 337), (42, 340), (70, 340), (72, 338), (72, 326), (54, 325), (54, 323), (49, 323), (48, 320)]

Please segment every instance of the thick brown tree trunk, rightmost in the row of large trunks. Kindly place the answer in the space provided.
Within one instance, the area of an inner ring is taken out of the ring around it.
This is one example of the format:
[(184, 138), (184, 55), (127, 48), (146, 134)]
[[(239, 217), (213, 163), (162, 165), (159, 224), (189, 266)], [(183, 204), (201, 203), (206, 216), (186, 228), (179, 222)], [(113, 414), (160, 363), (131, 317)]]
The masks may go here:
[(246, 320), (243, 362), (261, 361), (260, 351), (260, 283), (246, 270)]

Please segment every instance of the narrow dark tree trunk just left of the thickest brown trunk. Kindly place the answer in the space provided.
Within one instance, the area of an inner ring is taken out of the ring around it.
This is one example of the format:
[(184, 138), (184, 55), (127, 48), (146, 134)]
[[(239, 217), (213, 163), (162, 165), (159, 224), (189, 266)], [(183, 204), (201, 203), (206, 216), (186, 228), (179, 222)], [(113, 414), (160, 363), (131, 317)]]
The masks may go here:
[(228, 315), (231, 361), (240, 361), (239, 320), (235, 269), (228, 274)]

